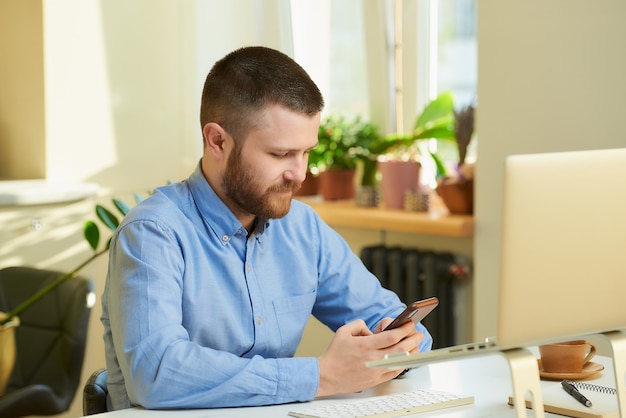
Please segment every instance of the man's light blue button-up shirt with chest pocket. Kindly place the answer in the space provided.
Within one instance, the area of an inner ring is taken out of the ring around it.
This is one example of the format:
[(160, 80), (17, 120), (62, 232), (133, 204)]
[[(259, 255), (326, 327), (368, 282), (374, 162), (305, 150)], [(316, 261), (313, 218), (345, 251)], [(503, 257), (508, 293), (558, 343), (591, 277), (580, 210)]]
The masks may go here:
[(293, 357), (311, 314), (373, 330), (404, 308), (309, 206), (248, 236), (199, 167), (124, 218), (102, 304), (114, 409), (311, 400), (317, 359)]

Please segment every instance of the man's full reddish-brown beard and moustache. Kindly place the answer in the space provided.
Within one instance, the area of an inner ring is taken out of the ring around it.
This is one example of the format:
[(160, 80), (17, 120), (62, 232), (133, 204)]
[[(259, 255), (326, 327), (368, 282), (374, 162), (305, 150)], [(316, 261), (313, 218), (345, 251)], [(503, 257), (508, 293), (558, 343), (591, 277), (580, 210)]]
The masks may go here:
[[(262, 219), (282, 218), (289, 213), (291, 199), (301, 183), (273, 184), (266, 189), (259, 176), (244, 164), (241, 147), (235, 147), (228, 157), (222, 188), (236, 209)], [(284, 192), (290, 192), (288, 195)], [(279, 194), (280, 193), (280, 194)]]

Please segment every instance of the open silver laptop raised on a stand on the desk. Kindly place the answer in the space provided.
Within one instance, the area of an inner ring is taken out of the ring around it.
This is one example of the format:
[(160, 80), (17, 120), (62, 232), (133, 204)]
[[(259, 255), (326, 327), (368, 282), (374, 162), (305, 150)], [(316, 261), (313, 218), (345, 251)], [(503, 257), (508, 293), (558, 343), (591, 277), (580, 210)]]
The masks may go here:
[(410, 368), (626, 329), (626, 148), (509, 156), (497, 335), (401, 354)]

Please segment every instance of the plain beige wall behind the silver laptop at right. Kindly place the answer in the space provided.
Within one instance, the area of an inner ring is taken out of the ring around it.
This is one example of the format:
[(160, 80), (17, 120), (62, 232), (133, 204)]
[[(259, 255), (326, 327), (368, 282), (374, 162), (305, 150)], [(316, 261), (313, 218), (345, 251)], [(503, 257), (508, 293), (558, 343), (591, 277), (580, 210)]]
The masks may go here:
[(622, 0), (478, 2), (476, 338), (495, 334), (505, 156), (626, 146), (624, 18)]

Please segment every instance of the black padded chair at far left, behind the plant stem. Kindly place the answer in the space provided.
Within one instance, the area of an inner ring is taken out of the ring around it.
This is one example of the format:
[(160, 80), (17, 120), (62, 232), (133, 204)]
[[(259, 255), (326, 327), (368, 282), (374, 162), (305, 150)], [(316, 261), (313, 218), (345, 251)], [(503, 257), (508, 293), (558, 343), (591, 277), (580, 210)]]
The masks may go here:
[[(0, 311), (10, 311), (63, 274), (31, 267), (0, 270)], [(15, 367), (0, 398), (0, 417), (69, 409), (80, 385), (92, 296), (93, 282), (74, 277), (20, 315)]]

